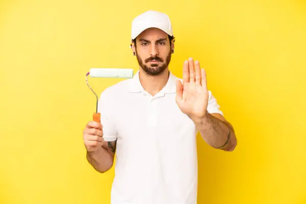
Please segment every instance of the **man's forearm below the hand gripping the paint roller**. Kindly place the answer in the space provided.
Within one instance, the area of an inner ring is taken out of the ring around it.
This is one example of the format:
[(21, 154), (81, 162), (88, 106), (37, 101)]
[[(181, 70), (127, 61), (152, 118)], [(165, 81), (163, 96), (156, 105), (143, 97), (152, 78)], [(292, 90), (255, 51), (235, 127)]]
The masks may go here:
[(96, 151), (87, 151), (86, 158), (95, 170), (104, 173), (113, 165), (111, 153), (104, 147), (99, 147)]

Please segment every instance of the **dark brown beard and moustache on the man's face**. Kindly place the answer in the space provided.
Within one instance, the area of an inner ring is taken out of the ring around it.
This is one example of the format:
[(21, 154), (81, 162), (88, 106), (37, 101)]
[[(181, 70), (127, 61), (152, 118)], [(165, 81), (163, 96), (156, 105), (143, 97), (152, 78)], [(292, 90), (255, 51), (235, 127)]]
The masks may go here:
[(150, 66), (145, 65), (145, 63), (143, 63), (143, 61), (141, 60), (140, 56), (137, 54), (136, 52), (136, 57), (137, 57), (137, 61), (139, 66), (144, 70), (144, 72), (148, 75), (151, 76), (157, 76), (160, 75), (161, 73), (163, 73), (165, 71), (165, 69), (168, 67), (170, 60), (171, 60), (171, 50), (169, 51), (167, 57), (166, 57), (166, 62), (164, 62), (163, 59), (159, 58), (159, 57), (149, 57), (147, 59), (144, 60), (145, 63), (151, 61), (151, 60), (157, 60), (160, 62), (164, 62), (162, 63), (160, 66), (158, 66), (158, 64), (151, 64)]

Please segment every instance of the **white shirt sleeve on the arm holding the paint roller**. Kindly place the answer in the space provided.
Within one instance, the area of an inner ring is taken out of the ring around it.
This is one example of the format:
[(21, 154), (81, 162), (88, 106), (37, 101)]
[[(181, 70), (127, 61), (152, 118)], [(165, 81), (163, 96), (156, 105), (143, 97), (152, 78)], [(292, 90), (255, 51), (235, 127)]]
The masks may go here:
[(103, 125), (104, 141), (112, 142), (117, 139), (117, 130), (113, 117), (114, 107), (111, 103), (111, 95), (105, 90), (98, 100), (98, 113), (101, 114), (101, 124)]

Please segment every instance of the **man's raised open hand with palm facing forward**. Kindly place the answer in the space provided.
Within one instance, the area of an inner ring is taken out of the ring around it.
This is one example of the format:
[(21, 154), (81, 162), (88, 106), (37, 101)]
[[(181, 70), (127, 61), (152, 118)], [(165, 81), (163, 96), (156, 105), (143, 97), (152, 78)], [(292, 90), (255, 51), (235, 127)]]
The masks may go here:
[(208, 89), (205, 69), (192, 58), (184, 62), (183, 84), (176, 81), (176, 103), (189, 117), (203, 117), (208, 106)]

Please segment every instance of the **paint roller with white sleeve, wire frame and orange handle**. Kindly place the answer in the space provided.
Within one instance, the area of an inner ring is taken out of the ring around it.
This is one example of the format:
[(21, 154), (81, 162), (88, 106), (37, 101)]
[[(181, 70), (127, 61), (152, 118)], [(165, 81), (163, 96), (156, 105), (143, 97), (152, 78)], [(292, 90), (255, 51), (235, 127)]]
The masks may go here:
[(88, 84), (88, 75), (91, 78), (133, 78), (134, 70), (128, 68), (91, 68), (86, 74), (86, 84), (96, 96), (96, 111), (92, 115), (93, 121), (100, 122), (101, 114), (98, 113), (98, 96)]

